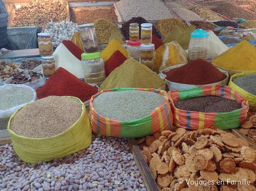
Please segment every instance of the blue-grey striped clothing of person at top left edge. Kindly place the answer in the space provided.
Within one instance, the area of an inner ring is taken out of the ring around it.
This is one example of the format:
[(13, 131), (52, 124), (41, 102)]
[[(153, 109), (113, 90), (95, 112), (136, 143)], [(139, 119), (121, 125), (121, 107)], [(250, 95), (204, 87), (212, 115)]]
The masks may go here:
[(7, 34), (8, 15), (3, 0), (0, 0), (0, 49), (6, 48), (12, 50), (10, 39)]

